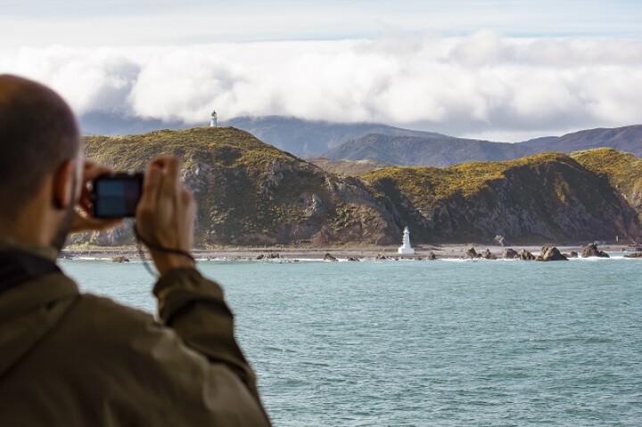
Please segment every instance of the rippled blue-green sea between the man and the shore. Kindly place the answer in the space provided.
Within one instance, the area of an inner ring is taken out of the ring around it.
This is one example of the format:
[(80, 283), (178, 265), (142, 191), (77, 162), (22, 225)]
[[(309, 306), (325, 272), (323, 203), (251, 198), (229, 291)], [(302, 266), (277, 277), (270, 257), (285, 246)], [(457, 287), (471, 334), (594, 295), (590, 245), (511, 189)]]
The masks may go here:
[[(62, 267), (155, 309), (141, 263)], [(642, 426), (642, 259), (199, 267), (276, 426)]]

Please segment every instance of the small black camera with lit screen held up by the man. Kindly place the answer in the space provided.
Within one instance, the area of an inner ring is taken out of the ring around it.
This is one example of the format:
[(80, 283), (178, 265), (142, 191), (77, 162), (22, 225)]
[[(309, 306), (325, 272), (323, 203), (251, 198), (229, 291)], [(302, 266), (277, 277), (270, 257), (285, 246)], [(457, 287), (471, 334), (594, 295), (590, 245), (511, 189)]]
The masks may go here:
[(114, 173), (95, 178), (91, 201), (94, 218), (136, 216), (136, 206), (143, 192), (142, 173)]

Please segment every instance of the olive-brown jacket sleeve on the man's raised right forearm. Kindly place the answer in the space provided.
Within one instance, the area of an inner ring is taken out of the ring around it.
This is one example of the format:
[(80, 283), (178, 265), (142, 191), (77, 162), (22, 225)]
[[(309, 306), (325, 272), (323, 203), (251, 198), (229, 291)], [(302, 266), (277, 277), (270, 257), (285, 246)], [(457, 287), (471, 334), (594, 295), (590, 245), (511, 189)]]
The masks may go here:
[(194, 268), (177, 268), (163, 275), (153, 288), (159, 316), (185, 345), (212, 363), (226, 365), (245, 384), (266, 419), (256, 376), (243, 356), (234, 334), (234, 315), (221, 287)]

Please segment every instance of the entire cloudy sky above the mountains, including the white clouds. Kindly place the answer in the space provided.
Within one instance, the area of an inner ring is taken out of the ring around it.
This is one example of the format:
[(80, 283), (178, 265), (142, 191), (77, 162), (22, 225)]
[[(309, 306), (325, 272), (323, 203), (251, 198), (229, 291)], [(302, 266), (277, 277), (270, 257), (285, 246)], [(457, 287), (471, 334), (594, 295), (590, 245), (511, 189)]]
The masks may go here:
[(0, 72), (79, 115), (284, 114), (520, 141), (642, 121), (642, 2), (5, 1)]

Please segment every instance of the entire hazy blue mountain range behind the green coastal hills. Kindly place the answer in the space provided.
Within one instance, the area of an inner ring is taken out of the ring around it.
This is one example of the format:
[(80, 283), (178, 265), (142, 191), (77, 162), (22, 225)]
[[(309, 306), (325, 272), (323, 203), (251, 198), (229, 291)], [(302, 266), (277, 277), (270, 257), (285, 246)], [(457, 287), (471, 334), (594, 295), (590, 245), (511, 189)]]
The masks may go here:
[[(160, 129), (193, 127), (91, 112), (79, 118), (85, 135), (136, 135)], [(642, 156), (642, 126), (590, 129), (544, 136), (518, 144), (492, 143), (376, 123), (333, 123), (284, 116), (239, 117), (219, 123), (250, 132), (267, 144), (302, 158), (375, 160), (407, 166), (446, 167), (466, 161), (512, 160), (539, 152), (576, 152), (610, 147)], [(209, 125), (204, 118), (203, 127)]]

